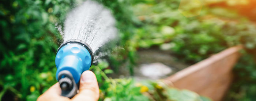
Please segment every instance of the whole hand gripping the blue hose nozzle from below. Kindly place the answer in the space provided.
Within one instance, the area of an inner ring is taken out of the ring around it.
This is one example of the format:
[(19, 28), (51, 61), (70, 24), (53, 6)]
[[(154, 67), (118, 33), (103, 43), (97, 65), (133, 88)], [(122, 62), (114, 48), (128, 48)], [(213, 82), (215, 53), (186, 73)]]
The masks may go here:
[(96, 76), (90, 70), (82, 73), (80, 78), (79, 93), (72, 99), (60, 96), (61, 88), (59, 82), (50, 87), (37, 101), (98, 101), (99, 86)]

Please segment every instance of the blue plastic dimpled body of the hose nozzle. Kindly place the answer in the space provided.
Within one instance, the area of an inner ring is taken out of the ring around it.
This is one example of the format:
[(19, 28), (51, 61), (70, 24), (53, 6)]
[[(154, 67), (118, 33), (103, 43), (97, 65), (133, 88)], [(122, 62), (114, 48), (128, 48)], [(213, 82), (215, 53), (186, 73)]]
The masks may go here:
[(82, 45), (72, 43), (64, 45), (59, 49), (55, 58), (56, 79), (58, 80), (59, 72), (68, 70), (78, 84), (81, 74), (85, 70), (89, 70), (91, 63), (91, 55)]

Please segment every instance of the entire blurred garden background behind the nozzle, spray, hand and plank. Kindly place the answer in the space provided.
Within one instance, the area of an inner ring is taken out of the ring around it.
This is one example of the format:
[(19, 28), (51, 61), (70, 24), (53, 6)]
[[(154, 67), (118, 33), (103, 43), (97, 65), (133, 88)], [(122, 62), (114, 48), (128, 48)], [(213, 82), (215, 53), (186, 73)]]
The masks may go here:
[[(120, 35), (90, 68), (99, 101), (211, 101), (156, 80), (236, 45), (244, 49), (223, 101), (256, 100), (256, 0), (96, 1), (112, 11)], [(57, 82), (60, 32), (82, 2), (1, 0), (0, 100), (35, 101)]]

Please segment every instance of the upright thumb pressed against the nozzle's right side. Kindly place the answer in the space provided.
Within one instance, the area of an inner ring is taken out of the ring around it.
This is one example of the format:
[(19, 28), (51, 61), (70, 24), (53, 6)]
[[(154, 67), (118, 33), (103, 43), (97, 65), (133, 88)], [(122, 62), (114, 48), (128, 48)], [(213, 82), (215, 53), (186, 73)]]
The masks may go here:
[(79, 93), (72, 98), (73, 101), (98, 101), (99, 86), (93, 72), (86, 70), (80, 79)]

